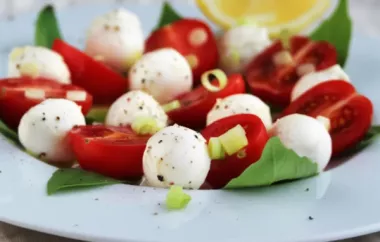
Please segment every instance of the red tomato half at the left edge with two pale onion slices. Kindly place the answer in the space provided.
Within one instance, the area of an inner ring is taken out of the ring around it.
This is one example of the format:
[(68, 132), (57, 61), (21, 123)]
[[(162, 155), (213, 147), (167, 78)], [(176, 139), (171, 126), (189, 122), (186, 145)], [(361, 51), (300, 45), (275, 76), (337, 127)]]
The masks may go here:
[[(26, 90), (38, 89), (45, 93), (44, 98), (31, 98), (26, 95)], [(33, 106), (47, 98), (66, 98), (68, 91), (83, 91), (83, 88), (69, 84), (61, 84), (45, 78), (10, 78), (0, 80), (0, 119), (10, 128), (17, 130), (22, 116)], [(92, 96), (86, 92), (84, 101), (75, 101), (82, 107), (84, 115), (88, 113), (92, 105)]]

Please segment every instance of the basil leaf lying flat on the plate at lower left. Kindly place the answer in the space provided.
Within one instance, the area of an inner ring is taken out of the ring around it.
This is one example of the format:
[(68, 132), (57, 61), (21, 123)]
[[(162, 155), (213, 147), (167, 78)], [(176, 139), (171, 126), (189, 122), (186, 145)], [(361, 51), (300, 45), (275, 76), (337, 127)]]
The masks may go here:
[(63, 190), (75, 190), (119, 183), (122, 182), (97, 173), (77, 168), (63, 168), (54, 172), (49, 179), (47, 184), (47, 194), (52, 195)]

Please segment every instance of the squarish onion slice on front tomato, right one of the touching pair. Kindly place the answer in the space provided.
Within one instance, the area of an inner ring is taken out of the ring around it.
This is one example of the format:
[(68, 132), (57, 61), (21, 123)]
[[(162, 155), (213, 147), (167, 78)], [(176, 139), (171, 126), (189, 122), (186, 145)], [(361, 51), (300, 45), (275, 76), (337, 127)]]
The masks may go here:
[(219, 140), (228, 155), (233, 155), (248, 145), (245, 130), (240, 124), (219, 136)]

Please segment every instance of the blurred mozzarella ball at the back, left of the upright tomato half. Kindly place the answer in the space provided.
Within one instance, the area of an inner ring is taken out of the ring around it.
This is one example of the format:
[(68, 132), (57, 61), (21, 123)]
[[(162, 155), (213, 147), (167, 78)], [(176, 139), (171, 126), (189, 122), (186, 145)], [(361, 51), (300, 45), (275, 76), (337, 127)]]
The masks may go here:
[(120, 8), (95, 19), (88, 30), (85, 52), (116, 71), (127, 71), (144, 52), (137, 15)]

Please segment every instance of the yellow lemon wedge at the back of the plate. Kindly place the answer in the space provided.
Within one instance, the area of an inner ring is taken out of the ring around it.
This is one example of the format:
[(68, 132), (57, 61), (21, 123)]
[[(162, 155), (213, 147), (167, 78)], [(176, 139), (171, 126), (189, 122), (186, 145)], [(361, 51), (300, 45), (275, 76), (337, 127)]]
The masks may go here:
[(331, 0), (196, 0), (211, 21), (228, 29), (241, 19), (254, 19), (267, 27), (272, 37), (284, 29), (298, 33), (319, 20), (329, 9)]

